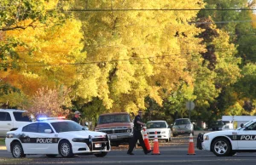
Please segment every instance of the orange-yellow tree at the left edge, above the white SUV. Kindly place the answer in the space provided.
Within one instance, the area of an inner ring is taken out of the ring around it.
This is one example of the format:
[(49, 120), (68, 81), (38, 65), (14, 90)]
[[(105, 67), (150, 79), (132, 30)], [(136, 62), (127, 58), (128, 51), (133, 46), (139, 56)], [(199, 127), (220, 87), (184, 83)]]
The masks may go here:
[[(29, 100), (38, 88), (72, 86), (77, 77), (76, 62), (86, 54), (82, 53), (79, 20), (61, 13), (66, 4), (27, 0), (4, 5), (8, 10), (1, 31), (0, 88)], [(20, 19), (9, 18), (18, 12), (17, 5), (22, 9)], [(0, 104), (10, 103), (12, 97), (5, 93)], [(19, 107), (20, 102), (12, 105)]]

